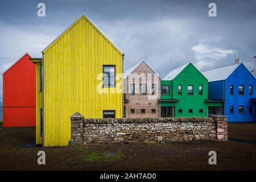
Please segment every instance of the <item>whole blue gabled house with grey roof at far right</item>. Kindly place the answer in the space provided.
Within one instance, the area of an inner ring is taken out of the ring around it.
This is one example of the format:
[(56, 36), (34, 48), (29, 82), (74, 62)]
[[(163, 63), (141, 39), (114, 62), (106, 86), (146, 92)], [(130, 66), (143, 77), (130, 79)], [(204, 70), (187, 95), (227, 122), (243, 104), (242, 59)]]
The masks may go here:
[(229, 122), (255, 122), (256, 78), (243, 63), (202, 72), (209, 81), (209, 100), (224, 100)]

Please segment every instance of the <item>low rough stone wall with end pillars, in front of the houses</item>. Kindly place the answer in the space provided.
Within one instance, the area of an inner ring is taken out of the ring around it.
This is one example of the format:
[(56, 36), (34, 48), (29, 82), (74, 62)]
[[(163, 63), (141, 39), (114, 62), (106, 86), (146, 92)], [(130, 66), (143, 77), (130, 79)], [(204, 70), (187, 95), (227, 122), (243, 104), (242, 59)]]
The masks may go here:
[(225, 117), (85, 119), (79, 113), (71, 116), (71, 143), (137, 143), (216, 139), (227, 140), (227, 119)]

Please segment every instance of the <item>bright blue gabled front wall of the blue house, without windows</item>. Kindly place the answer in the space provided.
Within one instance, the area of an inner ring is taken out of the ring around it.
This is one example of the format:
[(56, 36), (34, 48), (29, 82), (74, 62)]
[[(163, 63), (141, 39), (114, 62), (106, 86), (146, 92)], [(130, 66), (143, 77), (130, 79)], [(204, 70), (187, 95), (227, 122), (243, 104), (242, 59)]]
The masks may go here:
[[(230, 95), (230, 85), (234, 85), (234, 94)], [(243, 85), (243, 96), (239, 95), (239, 85)], [(253, 94), (249, 96), (249, 85), (253, 86)], [(249, 72), (245, 65), (240, 64), (225, 80), (225, 115), (229, 122), (255, 122), (255, 104), (250, 98), (256, 97), (256, 78)], [(230, 113), (233, 106), (233, 114)], [(243, 106), (243, 114), (239, 114), (239, 106)], [(252, 113), (249, 113), (249, 106)]]

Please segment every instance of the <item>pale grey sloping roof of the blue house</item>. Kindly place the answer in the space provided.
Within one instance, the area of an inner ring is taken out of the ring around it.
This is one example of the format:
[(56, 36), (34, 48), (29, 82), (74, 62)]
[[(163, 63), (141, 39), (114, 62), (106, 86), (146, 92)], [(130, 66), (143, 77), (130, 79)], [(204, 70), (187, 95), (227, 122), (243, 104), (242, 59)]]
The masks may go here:
[(234, 71), (241, 65), (242, 63), (238, 64), (231, 64), (225, 67), (210, 69), (208, 71), (202, 72), (202, 74), (208, 78), (208, 81), (220, 81), (226, 80)]

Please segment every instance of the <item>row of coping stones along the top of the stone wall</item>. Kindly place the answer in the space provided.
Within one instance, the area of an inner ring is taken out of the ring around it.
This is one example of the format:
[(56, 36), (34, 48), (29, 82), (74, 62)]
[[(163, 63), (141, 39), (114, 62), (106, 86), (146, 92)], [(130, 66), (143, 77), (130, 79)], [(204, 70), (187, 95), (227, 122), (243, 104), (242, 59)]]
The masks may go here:
[(177, 118), (85, 118), (84, 123), (88, 124), (103, 124), (103, 123), (167, 123), (167, 122), (181, 122), (181, 123), (200, 123), (200, 122), (214, 122), (213, 118), (203, 117), (177, 117)]

